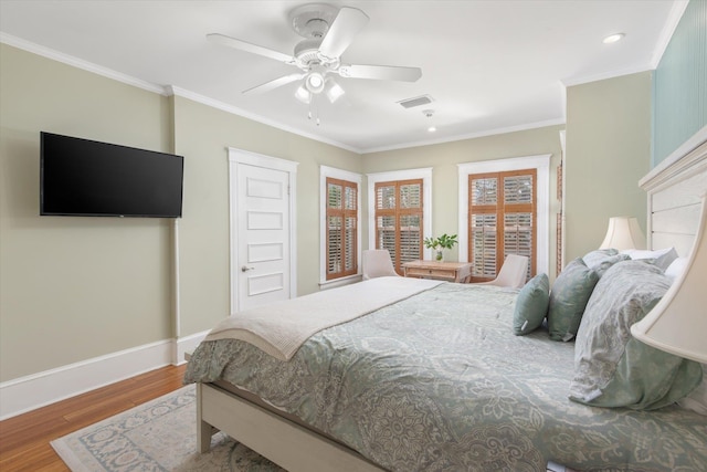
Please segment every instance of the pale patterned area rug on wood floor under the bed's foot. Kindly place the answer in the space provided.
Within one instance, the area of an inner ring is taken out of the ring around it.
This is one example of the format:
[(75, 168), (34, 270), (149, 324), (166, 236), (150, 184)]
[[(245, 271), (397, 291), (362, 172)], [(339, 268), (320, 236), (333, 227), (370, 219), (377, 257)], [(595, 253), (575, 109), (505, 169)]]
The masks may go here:
[(197, 452), (196, 390), (190, 385), (55, 441), (73, 472), (238, 471), (283, 469), (224, 433), (208, 453)]

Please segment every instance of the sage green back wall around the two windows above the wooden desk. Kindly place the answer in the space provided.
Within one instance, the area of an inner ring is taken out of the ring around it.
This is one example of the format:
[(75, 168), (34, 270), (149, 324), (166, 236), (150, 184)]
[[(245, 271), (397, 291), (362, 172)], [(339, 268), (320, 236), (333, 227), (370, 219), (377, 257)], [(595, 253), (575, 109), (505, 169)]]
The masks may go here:
[[(548, 126), (524, 132), (464, 139), (453, 143), (420, 146), (409, 149), (363, 155), (363, 172), (432, 167), (432, 232), (458, 232), (458, 170), (457, 164), (508, 157), (551, 154), (550, 159), (550, 276), (553, 276), (557, 248), (556, 219), (559, 212), (556, 169), (561, 158), (560, 130), (563, 126)], [(458, 247), (450, 252), (450, 260), (458, 259)]]

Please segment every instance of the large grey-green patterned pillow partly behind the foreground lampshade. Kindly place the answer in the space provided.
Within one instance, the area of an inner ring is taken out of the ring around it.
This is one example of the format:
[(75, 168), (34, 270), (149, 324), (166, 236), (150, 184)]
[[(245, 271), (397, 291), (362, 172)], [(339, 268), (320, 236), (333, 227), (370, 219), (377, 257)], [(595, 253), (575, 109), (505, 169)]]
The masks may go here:
[(656, 409), (675, 403), (701, 380), (699, 363), (651, 347), (631, 336), (663, 297), (671, 280), (643, 261), (624, 261), (601, 277), (574, 346), (570, 399), (599, 407)]

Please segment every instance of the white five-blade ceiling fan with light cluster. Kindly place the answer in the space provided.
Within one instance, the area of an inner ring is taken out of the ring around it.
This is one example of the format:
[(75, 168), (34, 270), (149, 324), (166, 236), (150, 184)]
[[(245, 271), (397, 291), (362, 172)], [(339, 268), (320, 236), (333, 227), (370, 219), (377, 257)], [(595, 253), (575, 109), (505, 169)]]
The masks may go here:
[(295, 8), (289, 20), (297, 34), (305, 38), (295, 45), (294, 54), (285, 54), (224, 34), (208, 34), (209, 41), (241, 51), (274, 59), (294, 65), (299, 72), (284, 75), (243, 91), (244, 94), (264, 93), (303, 80), (295, 96), (310, 103), (313, 96), (324, 93), (331, 103), (344, 94), (333, 75), (351, 78), (415, 82), (422, 76), (420, 67), (392, 65), (345, 64), (340, 57), (354, 38), (366, 27), (369, 18), (361, 10), (340, 9), (326, 3), (308, 3)]

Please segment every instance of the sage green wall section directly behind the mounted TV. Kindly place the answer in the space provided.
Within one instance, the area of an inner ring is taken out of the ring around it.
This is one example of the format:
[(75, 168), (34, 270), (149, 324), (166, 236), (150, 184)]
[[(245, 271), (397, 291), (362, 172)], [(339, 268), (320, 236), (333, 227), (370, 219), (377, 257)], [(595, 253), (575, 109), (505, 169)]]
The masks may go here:
[(0, 380), (169, 338), (169, 221), (39, 216), (40, 130), (167, 151), (167, 98), (0, 44)]

